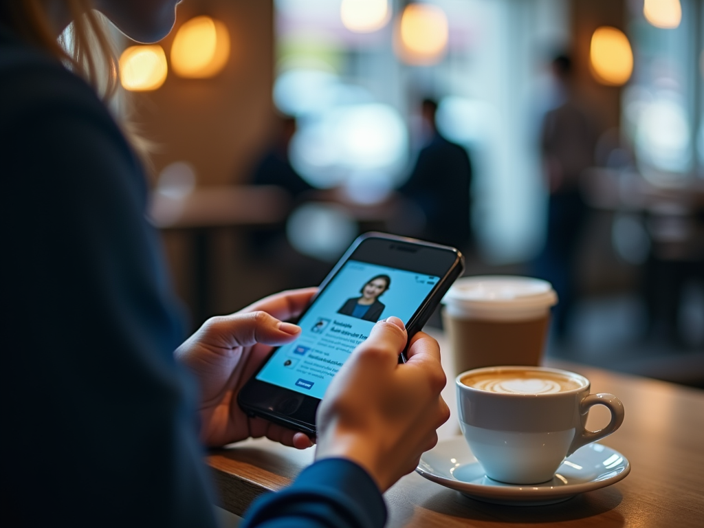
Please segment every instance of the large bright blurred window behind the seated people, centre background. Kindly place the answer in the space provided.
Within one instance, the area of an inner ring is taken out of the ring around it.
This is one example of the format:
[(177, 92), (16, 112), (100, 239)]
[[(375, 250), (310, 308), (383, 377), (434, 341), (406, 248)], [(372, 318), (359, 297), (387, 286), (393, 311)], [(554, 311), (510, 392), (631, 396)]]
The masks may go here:
[(439, 130), (474, 165), (480, 249), (494, 262), (528, 258), (543, 223), (534, 108), (546, 58), (569, 40), (569, 3), (427, 1), (446, 33), (441, 52), (420, 62), (401, 49), (408, 4), (276, 0), (274, 99), (298, 120), (291, 162), (315, 187), (379, 201), (403, 184), (427, 137), (421, 99), (438, 99)]

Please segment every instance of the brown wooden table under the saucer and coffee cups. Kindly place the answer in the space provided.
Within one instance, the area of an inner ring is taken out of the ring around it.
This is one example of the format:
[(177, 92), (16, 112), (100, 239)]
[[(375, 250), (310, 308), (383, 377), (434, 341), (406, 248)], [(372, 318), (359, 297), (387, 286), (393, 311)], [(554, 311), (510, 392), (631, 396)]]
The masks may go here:
[[(453, 415), (439, 430), (441, 439), (459, 432), (450, 362), (444, 356), (448, 372), (444, 396)], [(631, 463), (631, 473), (617, 484), (563, 503), (520, 507), (474, 501), (414, 472), (384, 495), (388, 527), (704, 526), (704, 391), (584, 365), (547, 363), (586, 376), (592, 392), (612, 392), (621, 398), (626, 409), (624, 424), (601, 443), (623, 453)], [(608, 412), (596, 407), (588, 427), (596, 429), (607, 421)], [(312, 461), (313, 450), (296, 451), (264, 439), (208, 455), (222, 508), (236, 515), (242, 515), (259, 494), (289, 484)]]

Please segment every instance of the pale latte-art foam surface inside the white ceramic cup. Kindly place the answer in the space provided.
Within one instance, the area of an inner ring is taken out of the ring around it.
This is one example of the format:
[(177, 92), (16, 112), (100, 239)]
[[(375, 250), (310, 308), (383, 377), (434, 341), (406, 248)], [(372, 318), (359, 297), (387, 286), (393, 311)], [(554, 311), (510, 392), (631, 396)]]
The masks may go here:
[(474, 389), (499, 394), (555, 394), (584, 386), (579, 379), (531, 370), (485, 372), (465, 376), (460, 381)]

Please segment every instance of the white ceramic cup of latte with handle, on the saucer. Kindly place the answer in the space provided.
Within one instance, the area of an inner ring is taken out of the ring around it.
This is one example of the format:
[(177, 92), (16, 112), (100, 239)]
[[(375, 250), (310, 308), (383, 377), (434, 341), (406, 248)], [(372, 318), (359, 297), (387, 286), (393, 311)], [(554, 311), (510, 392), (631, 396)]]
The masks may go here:
[[(613, 394), (589, 394), (589, 379), (547, 367), (503, 366), (460, 374), (458, 416), (486, 476), (509, 484), (547, 482), (565, 458), (608, 436), (623, 422)], [(589, 409), (603, 405), (609, 424), (586, 429)]]

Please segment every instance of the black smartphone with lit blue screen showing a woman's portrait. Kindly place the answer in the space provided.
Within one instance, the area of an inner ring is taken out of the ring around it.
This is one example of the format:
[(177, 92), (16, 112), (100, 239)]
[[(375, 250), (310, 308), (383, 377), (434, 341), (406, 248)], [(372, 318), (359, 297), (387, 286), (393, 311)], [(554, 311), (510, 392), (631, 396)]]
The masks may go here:
[(375, 322), (396, 315), (410, 342), (463, 270), (464, 258), (455, 248), (363, 234), (298, 318), (301, 335), (272, 351), (239, 391), (239, 406), (248, 415), (315, 435), (325, 389)]

